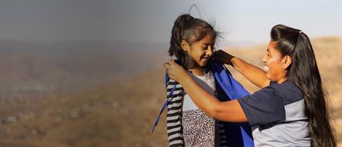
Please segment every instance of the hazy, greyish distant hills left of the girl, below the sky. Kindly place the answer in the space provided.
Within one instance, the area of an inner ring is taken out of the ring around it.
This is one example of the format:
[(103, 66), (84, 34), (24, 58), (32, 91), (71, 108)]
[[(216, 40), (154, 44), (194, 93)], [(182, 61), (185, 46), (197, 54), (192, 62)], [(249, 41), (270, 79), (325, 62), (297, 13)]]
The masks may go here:
[(167, 45), (0, 41), (0, 98), (78, 92), (160, 67)]

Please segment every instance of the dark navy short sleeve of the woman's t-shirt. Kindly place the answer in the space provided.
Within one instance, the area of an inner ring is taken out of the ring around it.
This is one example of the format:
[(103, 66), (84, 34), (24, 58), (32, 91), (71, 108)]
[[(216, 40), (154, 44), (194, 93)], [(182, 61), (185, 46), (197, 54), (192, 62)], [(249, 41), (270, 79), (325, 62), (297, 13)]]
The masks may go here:
[(271, 85), (238, 101), (251, 126), (276, 123), (286, 119), (284, 102)]

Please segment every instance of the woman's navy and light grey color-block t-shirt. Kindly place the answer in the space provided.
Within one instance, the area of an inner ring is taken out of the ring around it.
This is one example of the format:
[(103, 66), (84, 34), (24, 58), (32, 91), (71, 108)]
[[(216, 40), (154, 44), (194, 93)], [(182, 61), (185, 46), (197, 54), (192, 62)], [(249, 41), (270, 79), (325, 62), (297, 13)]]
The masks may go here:
[(252, 95), (238, 99), (255, 146), (310, 146), (304, 96), (289, 80), (272, 82)]

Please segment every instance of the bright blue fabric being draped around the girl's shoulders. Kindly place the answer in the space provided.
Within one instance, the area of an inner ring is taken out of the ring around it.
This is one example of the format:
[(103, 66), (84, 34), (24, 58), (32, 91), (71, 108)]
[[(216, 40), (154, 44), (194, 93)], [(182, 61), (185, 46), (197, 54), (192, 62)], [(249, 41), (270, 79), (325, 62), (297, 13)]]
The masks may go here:
[[(217, 99), (220, 101), (229, 101), (232, 99), (239, 99), (249, 95), (242, 85), (237, 82), (237, 80), (232, 77), (232, 74), (224, 67), (222, 62), (210, 61), (210, 67), (212, 68), (212, 72), (215, 77), (216, 89), (217, 89)], [(165, 85), (167, 81), (170, 80), (167, 73), (165, 74)], [(175, 87), (174, 87), (175, 89)], [(172, 92), (170, 92), (172, 94)], [(170, 97), (170, 94), (167, 97)], [(167, 107), (167, 100), (163, 104), (160, 114)], [(157, 116), (157, 120), (155, 121), (155, 125), (153, 126), (152, 131), (157, 126), (158, 121), (160, 119), (160, 114)], [(252, 129), (251, 126), (245, 123), (229, 123), (224, 122), (224, 129), (227, 136), (227, 145), (234, 147), (252, 147), (254, 146), (253, 137), (252, 137)]]

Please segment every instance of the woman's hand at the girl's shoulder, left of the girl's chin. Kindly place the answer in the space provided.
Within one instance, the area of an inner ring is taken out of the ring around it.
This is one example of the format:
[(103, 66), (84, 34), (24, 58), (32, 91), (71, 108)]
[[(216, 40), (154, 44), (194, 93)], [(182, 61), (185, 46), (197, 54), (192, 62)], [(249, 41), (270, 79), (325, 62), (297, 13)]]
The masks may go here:
[(183, 79), (189, 76), (187, 74), (187, 71), (172, 59), (169, 60), (169, 62), (165, 62), (162, 66), (167, 69), (167, 74), (169, 74), (170, 79), (175, 80), (179, 83), (181, 83)]

